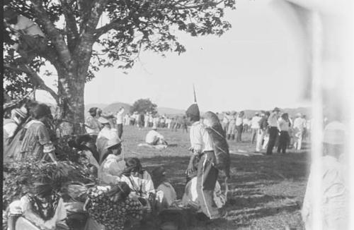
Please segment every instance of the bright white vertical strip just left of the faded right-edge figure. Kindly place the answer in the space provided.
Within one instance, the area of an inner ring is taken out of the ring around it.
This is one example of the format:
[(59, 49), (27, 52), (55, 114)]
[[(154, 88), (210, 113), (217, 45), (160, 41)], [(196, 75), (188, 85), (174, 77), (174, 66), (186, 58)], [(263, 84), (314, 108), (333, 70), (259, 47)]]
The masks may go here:
[(312, 229), (322, 229), (321, 210), (321, 155), (323, 135), (323, 98), (321, 84), (322, 70), (322, 22), (318, 12), (312, 13), (312, 175), (314, 189), (312, 189), (313, 208)]

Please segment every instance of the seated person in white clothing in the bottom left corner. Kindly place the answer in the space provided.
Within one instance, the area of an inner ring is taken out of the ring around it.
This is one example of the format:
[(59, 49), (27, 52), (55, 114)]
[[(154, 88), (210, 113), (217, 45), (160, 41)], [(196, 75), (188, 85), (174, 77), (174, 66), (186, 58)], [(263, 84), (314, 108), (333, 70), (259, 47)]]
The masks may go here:
[(55, 193), (52, 183), (48, 177), (36, 179), (31, 193), (9, 205), (8, 230), (69, 229), (64, 222), (67, 218), (64, 202)]

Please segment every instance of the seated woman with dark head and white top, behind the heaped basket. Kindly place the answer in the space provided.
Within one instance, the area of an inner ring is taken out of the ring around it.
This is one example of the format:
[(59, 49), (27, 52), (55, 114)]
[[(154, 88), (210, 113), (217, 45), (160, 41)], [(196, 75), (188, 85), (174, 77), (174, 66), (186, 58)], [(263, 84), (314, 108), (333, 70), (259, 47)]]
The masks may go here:
[(147, 207), (147, 211), (151, 211), (152, 207), (149, 200), (151, 196), (154, 196), (154, 183), (150, 174), (142, 169), (139, 159), (133, 157), (127, 159), (125, 162), (126, 169), (122, 175), (121, 181), (127, 183), (132, 189), (130, 197), (139, 198), (144, 207)]

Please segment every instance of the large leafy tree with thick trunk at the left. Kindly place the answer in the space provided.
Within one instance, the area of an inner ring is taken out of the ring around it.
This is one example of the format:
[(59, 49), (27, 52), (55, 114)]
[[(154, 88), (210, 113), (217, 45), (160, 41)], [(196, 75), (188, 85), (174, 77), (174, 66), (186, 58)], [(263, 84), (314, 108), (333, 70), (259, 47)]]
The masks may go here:
[[(47, 90), (59, 116), (84, 121), (84, 86), (99, 67), (131, 68), (142, 50), (185, 52), (174, 32), (192, 36), (222, 35), (231, 25), (224, 10), (234, 0), (13, 0), (5, 6), (34, 20), (48, 39), (47, 48), (27, 65), (13, 63), (5, 52), (5, 79)], [(11, 38), (5, 37), (5, 50)], [(50, 63), (57, 92), (38, 74)], [(30, 83), (30, 84), (28, 84)], [(13, 89), (13, 87), (12, 87)]]

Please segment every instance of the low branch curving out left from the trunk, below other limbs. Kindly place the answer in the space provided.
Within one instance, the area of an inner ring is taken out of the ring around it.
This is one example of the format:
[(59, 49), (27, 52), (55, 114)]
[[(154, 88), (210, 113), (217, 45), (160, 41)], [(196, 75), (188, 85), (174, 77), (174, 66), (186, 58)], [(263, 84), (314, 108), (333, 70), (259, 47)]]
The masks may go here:
[(52, 97), (55, 99), (55, 101), (59, 103), (59, 97), (57, 93), (54, 92), (54, 90), (52, 90), (50, 87), (45, 85), (45, 82), (42, 80), (42, 78), (40, 78), (40, 75), (38, 75), (38, 73), (33, 71), (33, 69), (30, 68), (30, 66), (25, 64), (21, 64), (21, 66), (10, 66), (8, 64), (4, 64), (4, 68), (11, 69), (12, 71), (16, 71), (18, 73), (25, 73), (26, 75), (28, 75), (28, 78), (30, 78), (33, 85), (38, 85), (40, 90), (45, 90), (49, 92), (50, 95), (52, 95)]

